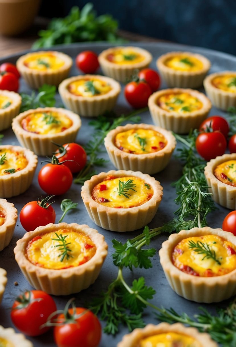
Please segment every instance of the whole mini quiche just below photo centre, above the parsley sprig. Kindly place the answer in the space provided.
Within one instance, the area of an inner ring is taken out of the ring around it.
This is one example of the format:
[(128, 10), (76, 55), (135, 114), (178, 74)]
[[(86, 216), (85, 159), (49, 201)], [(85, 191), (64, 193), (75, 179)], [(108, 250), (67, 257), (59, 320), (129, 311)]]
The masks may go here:
[(134, 171), (108, 171), (85, 181), (81, 196), (95, 224), (111, 231), (133, 231), (153, 219), (163, 188), (155, 178)]

